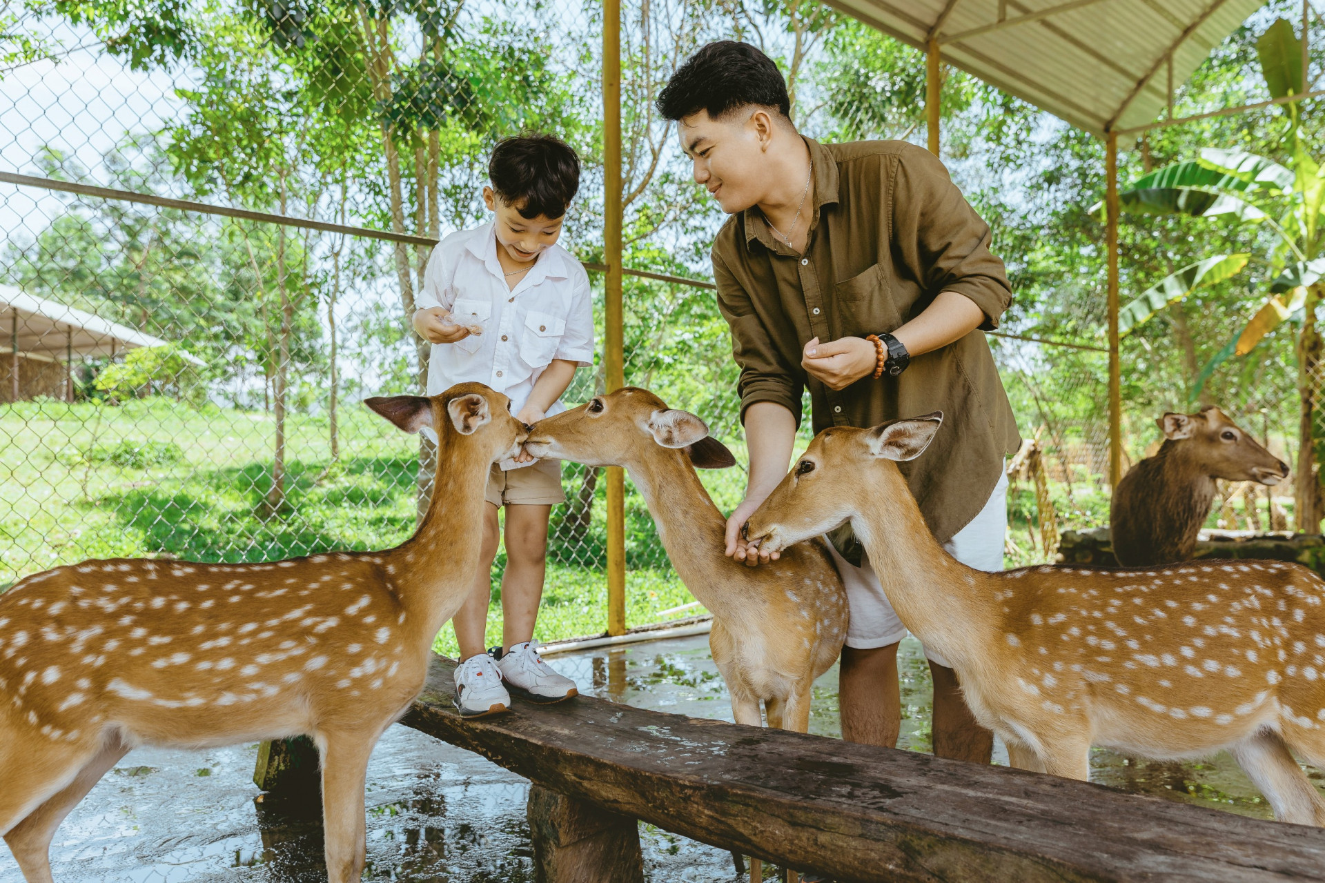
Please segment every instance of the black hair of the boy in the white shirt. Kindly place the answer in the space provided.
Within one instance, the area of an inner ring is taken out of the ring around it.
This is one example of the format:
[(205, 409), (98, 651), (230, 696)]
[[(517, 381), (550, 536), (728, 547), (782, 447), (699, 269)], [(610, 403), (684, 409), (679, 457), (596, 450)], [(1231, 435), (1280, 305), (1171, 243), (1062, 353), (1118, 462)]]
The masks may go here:
[(551, 135), (518, 135), (497, 143), (488, 160), (493, 191), (521, 217), (566, 214), (579, 191), (579, 156)]

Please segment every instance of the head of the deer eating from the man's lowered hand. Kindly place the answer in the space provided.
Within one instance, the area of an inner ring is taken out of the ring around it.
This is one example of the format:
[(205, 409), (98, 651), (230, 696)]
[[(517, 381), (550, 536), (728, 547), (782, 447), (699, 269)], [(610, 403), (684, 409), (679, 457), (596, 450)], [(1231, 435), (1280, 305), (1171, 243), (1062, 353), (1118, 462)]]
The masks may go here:
[[(867, 508), (885, 508), (894, 494), (909, 496), (896, 463), (920, 457), (942, 422), (943, 413), (935, 410), (873, 429), (823, 430), (746, 522), (746, 536), (780, 552)], [(874, 470), (872, 481), (861, 481), (864, 470)]]

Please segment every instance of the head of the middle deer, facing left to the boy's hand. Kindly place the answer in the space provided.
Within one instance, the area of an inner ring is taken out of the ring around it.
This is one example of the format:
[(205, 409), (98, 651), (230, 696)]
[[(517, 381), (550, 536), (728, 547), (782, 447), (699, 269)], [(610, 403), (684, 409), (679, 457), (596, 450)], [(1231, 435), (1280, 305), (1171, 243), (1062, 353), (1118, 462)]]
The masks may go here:
[(735, 466), (708, 425), (688, 410), (668, 408), (648, 389), (625, 387), (595, 396), (579, 408), (538, 421), (525, 450), (587, 466), (631, 466), (660, 447), (680, 449), (698, 469)]

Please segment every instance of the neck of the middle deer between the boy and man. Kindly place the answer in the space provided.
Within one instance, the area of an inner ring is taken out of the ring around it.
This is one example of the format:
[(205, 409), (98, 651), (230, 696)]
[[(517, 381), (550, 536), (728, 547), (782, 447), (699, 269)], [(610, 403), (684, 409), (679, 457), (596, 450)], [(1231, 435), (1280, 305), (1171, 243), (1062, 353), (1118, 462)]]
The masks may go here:
[(727, 520), (713, 504), (690, 458), (684, 450), (655, 446), (625, 463), (625, 471), (644, 496), (662, 548), (685, 586), (714, 616), (738, 616), (737, 598), (721, 590), (721, 575), (733, 565), (745, 565), (723, 553)]

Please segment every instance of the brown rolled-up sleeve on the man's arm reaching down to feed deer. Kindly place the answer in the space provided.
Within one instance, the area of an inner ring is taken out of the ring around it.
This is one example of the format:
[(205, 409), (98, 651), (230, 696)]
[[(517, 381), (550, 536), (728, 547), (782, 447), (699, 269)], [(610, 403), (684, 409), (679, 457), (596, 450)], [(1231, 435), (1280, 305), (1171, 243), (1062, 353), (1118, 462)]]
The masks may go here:
[(741, 395), (741, 422), (750, 405), (772, 401), (792, 413), (800, 426), (803, 380), (774, 346), (768, 330), (755, 312), (750, 293), (713, 253), (713, 278), (718, 285), (718, 310), (731, 328), (731, 356), (741, 368), (737, 389)]

